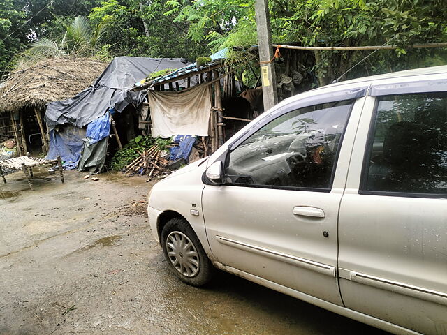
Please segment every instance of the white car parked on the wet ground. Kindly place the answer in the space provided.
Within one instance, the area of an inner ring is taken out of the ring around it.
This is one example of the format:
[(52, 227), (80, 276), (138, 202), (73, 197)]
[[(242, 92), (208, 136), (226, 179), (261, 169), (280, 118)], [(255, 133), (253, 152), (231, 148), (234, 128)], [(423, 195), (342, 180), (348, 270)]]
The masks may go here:
[(191, 285), (214, 267), (395, 334), (447, 334), (447, 66), (282, 101), (156, 184)]

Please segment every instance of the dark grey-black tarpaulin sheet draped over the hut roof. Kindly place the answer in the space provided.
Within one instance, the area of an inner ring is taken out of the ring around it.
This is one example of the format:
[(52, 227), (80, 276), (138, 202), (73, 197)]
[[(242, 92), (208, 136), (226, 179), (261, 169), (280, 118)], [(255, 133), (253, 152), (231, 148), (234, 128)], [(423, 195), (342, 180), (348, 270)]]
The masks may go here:
[(116, 57), (88, 87), (73, 98), (49, 103), (45, 120), (50, 129), (59, 124), (72, 124), (82, 128), (98, 119), (110, 108), (122, 112), (133, 103), (139, 105), (145, 91), (129, 91), (135, 82), (165, 68), (182, 68), (187, 65), (180, 58)]

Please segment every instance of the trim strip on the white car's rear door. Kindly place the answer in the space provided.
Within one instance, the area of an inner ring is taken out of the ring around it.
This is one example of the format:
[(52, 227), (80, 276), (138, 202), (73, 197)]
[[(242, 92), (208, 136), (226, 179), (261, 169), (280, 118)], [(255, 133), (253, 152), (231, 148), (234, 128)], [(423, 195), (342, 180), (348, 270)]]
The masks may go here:
[[(342, 273), (342, 271), (344, 272), (349, 270), (340, 268), (339, 272)], [(432, 301), (437, 304), (447, 303), (447, 293), (430, 290), (428, 288), (420, 288), (419, 286), (409, 285), (406, 283), (401, 283), (399, 281), (390, 281), (389, 279), (371, 276), (369, 274), (362, 274), (356, 271), (349, 271), (349, 278), (346, 279), (384, 290), (391, 289), (393, 292), (397, 292), (402, 295), (408, 295), (410, 297)]]

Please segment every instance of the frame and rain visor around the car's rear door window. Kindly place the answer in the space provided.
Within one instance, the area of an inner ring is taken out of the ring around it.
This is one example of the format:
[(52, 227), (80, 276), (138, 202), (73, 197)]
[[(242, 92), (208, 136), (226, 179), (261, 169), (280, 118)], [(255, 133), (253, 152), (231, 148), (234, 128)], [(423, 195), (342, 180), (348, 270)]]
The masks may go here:
[[(434, 82), (433, 80), (425, 80), (423, 82)], [(397, 85), (397, 84), (396, 84)], [(379, 85), (378, 87), (386, 87), (386, 85)], [(425, 87), (427, 88), (427, 84), (418, 85), (419, 87)], [(373, 88), (373, 87), (372, 87)], [(370, 92), (372, 91), (372, 88), (369, 89), (369, 96), (372, 96)], [(447, 194), (440, 194), (440, 193), (416, 193), (416, 192), (396, 192), (396, 191), (372, 191), (372, 190), (366, 190), (366, 184), (367, 184), (367, 178), (369, 174), (369, 162), (371, 160), (372, 155), (372, 146), (374, 144), (374, 131), (375, 131), (375, 123), (376, 123), (376, 117), (378, 114), (378, 108), (379, 108), (379, 100), (383, 96), (404, 96), (409, 94), (436, 94), (440, 92), (446, 92), (447, 93), (447, 87), (442, 87), (443, 89), (440, 90), (427, 90), (427, 91), (420, 91), (420, 90), (414, 90), (414, 87), (405, 87), (402, 89), (400, 87), (399, 93), (395, 93), (395, 91), (392, 91), (390, 94), (374, 94), (374, 110), (372, 111), (371, 119), (369, 120), (369, 128), (368, 128), (368, 135), (367, 135), (367, 141), (365, 143), (365, 149), (363, 151), (363, 161), (362, 161), (362, 170), (360, 172), (360, 184), (358, 186), (358, 194), (360, 195), (380, 195), (380, 196), (389, 196), (389, 197), (400, 197), (400, 198), (432, 198), (432, 199), (445, 199), (447, 198)], [(381, 91), (383, 93), (383, 91)]]

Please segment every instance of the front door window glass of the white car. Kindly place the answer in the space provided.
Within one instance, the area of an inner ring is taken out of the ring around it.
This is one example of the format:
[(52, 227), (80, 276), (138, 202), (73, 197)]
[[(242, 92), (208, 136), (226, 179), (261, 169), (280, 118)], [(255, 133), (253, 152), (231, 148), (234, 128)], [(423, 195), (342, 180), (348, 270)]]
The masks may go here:
[(330, 189), (352, 104), (300, 108), (263, 126), (228, 154), (227, 184)]

